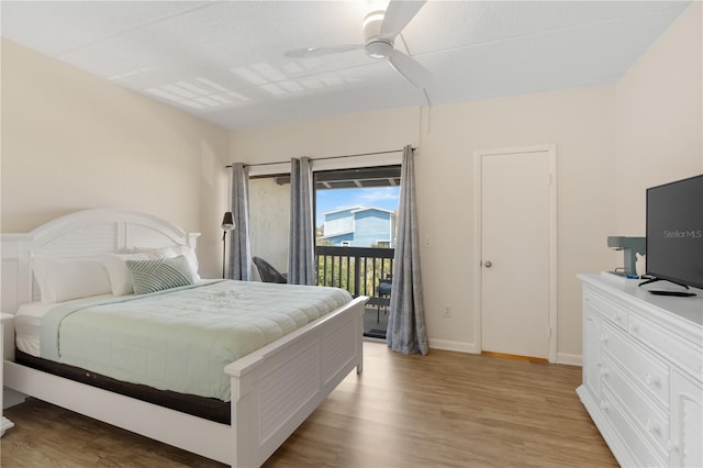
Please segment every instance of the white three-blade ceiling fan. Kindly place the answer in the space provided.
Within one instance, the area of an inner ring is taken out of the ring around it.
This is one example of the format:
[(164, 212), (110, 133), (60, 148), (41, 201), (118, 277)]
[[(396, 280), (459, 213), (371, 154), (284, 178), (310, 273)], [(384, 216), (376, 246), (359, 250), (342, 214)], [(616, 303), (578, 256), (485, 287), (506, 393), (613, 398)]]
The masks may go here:
[(288, 51), (287, 57), (314, 57), (362, 48), (366, 54), (388, 64), (417, 88), (426, 88), (429, 73), (409, 55), (394, 48), (395, 36), (415, 18), (426, 0), (391, 0), (386, 11), (372, 11), (364, 18), (364, 44), (333, 47), (304, 47)]

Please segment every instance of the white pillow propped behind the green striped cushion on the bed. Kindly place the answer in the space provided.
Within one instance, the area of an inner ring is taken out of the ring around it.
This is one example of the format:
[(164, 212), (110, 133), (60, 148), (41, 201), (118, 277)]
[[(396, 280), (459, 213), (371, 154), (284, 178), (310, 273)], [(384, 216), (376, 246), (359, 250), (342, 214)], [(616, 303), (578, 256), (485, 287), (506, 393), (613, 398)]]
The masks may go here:
[(131, 294), (134, 292), (132, 283), (132, 274), (130, 272), (126, 260), (150, 260), (154, 258), (174, 258), (180, 255), (188, 259), (188, 265), (192, 269), (193, 278), (200, 279), (198, 276), (198, 257), (192, 247), (186, 245), (175, 245), (163, 248), (141, 248), (134, 247), (132, 254), (110, 254), (103, 257), (102, 263), (108, 270), (112, 293), (114, 296)]

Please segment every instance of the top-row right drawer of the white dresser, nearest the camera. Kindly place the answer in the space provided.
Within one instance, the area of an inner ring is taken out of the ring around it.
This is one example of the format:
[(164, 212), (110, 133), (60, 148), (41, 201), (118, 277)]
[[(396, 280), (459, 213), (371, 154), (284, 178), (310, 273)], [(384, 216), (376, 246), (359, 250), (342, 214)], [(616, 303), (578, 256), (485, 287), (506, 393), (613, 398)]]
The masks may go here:
[(700, 345), (695, 346), (638, 314), (631, 314), (628, 330), (631, 336), (661, 353), (696, 379), (703, 377), (703, 349)]

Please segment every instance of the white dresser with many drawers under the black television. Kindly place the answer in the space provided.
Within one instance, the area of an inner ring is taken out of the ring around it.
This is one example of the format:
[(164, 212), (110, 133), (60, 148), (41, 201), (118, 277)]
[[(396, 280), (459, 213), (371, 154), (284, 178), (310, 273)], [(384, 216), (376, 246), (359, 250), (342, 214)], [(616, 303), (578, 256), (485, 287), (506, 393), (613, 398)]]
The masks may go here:
[(577, 392), (613, 455), (622, 466), (703, 466), (703, 291), (661, 297), (611, 274), (579, 278)]

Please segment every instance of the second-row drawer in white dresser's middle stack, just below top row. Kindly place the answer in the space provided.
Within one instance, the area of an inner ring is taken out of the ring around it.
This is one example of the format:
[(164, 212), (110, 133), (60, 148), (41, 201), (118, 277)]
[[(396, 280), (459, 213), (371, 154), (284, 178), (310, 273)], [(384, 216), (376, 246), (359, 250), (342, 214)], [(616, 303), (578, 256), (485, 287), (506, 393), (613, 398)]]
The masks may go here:
[(611, 359), (652, 400), (669, 408), (669, 366), (611, 324), (603, 324), (601, 336), (603, 350)]

